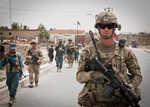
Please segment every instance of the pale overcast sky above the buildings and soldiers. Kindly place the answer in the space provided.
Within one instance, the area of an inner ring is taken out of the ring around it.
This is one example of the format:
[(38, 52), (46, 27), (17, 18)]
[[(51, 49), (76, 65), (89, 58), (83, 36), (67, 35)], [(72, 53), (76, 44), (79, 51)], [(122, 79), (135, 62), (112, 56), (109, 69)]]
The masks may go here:
[[(122, 25), (119, 33), (150, 32), (150, 0), (11, 0), (11, 21), (35, 29), (95, 30), (95, 15), (113, 8)], [(87, 15), (90, 14), (90, 15)], [(10, 26), (10, 0), (0, 0), (0, 23)]]

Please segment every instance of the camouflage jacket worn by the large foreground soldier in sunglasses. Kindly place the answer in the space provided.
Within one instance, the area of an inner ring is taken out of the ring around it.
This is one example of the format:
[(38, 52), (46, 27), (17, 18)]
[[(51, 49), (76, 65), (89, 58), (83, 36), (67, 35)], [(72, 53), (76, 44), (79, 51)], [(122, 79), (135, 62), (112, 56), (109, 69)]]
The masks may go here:
[[(99, 48), (99, 46), (98, 46)], [(138, 64), (135, 54), (127, 47), (120, 48), (118, 44), (115, 45), (115, 49), (109, 53), (103, 53), (99, 50), (102, 62), (104, 65), (111, 63), (113, 67), (118, 70), (117, 75), (128, 84), (132, 84), (134, 87), (138, 87), (142, 81), (142, 75), (140, 72), (140, 66)], [(110, 102), (110, 97), (104, 97), (104, 89), (109, 82), (107, 78), (98, 71), (89, 71), (85, 69), (86, 64), (96, 57), (95, 48), (92, 44), (87, 46), (81, 53), (78, 65), (78, 72), (76, 79), (80, 83), (85, 83), (84, 89), (80, 92), (79, 97), (82, 97), (88, 91), (94, 92), (97, 101)], [(91, 76), (89, 77), (89, 74)], [(129, 76), (130, 74), (130, 76)], [(101, 83), (96, 83), (93, 80), (94, 76), (102, 75)]]

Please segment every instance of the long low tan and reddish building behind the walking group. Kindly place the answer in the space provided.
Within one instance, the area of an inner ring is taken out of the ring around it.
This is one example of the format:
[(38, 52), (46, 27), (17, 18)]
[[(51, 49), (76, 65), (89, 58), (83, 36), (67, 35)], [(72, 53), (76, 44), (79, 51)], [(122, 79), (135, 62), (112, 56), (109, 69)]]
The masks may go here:
[[(19, 38), (19, 40), (27, 40), (30, 42), (32, 39), (36, 39), (38, 43), (45, 43), (45, 41), (39, 39), (38, 30), (6, 30), (0, 31), (1, 40), (10, 40)], [(75, 43), (85, 42), (85, 30), (48, 30), (50, 35), (49, 42), (57, 44), (59, 39), (68, 40), (72, 39)], [(82, 36), (82, 37), (80, 37)]]

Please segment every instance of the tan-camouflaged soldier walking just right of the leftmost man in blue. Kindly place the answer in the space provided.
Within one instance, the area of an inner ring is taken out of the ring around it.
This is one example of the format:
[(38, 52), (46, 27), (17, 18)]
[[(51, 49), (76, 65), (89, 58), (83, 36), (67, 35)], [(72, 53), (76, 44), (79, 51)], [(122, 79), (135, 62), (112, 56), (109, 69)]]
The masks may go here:
[(42, 63), (43, 60), (43, 54), (39, 49), (37, 49), (37, 43), (35, 41), (32, 41), (30, 45), (31, 45), (31, 49), (27, 51), (25, 64), (28, 66), (28, 71), (29, 71), (30, 85), (28, 87), (33, 88), (34, 82), (35, 82), (35, 86), (36, 87), (38, 86), (39, 73), (40, 73), (39, 70), (40, 70), (40, 64)]

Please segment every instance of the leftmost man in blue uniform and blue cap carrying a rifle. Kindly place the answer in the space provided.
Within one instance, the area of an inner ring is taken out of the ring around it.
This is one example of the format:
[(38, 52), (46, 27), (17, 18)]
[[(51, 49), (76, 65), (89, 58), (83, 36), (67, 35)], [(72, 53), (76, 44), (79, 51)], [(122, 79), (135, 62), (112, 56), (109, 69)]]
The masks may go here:
[(10, 106), (13, 105), (16, 98), (17, 88), (19, 85), (19, 79), (22, 76), (22, 58), (19, 52), (16, 52), (16, 43), (9, 44), (9, 52), (4, 55), (0, 61), (0, 69), (6, 66), (6, 84), (9, 90), (9, 102)]

